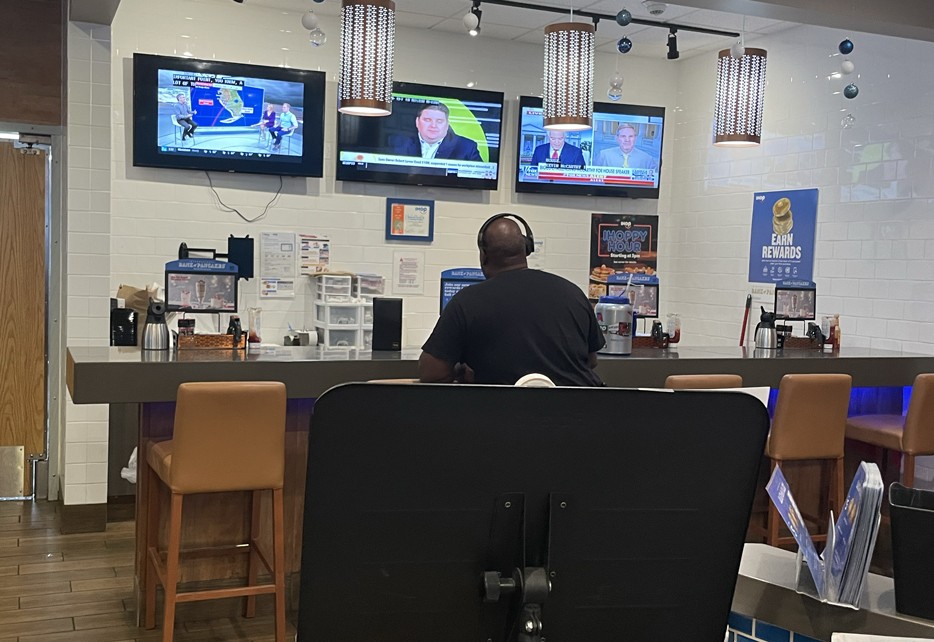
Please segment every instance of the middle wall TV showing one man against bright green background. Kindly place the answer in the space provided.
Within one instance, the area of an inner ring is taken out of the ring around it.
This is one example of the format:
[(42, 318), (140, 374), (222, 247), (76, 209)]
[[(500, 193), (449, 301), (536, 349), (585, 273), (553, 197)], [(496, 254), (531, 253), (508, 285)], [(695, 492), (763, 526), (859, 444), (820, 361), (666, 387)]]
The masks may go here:
[(392, 114), (337, 119), (337, 179), (495, 190), (503, 94), (393, 84)]

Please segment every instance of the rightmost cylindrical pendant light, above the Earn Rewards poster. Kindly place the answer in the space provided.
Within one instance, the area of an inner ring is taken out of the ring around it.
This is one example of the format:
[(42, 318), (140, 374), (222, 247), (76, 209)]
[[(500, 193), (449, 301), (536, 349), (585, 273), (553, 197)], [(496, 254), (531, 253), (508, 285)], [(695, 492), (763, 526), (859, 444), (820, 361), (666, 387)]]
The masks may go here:
[(739, 58), (729, 49), (717, 61), (714, 145), (752, 147), (762, 139), (765, 102), (765, 49), (746, 47)]

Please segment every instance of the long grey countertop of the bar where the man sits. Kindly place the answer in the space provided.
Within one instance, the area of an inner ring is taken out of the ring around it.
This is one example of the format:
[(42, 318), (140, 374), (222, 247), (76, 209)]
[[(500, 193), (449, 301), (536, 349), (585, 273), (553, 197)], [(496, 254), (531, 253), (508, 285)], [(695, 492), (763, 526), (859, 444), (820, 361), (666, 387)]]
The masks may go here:
[[(186, 381), (284, 381), (292, 398), (317, 397), (348, 381), (417, 376), (420, 350), (269, 347), (258, 351), (69, 348), (67, 384), (74, 403), (174, 401)], [(767, 355), (767, 356), (764, 356)], [(660, 387), (670, 374), (733, 373), (747, 386), (777, 387), (787, 373), (844, 372), (854, 386), (905, 386), (934, 372), (934, 356), (842, 348), (761, 351), (741, 347), (637, 348), (628, 357), (600, 356), (597, 372), (610, 386)]]

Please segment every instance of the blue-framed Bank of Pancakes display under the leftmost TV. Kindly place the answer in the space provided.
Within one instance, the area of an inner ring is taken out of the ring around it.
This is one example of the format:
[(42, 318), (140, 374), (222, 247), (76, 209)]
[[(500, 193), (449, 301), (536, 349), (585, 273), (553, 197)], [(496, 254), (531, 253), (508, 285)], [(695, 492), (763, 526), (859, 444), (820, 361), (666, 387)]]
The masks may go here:
[(234, 263), (179, 259), (165, 264), (165, 303), (169, 312), (236, 312)]

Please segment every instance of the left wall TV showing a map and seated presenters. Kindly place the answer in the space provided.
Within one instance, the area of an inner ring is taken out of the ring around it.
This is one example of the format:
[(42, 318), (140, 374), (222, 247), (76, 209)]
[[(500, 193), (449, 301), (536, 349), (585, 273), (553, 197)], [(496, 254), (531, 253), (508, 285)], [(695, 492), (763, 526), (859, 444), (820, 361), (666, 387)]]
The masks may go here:
[(138, 167), (321, 176), (324, 73), (134, 54), (133, 127)]

